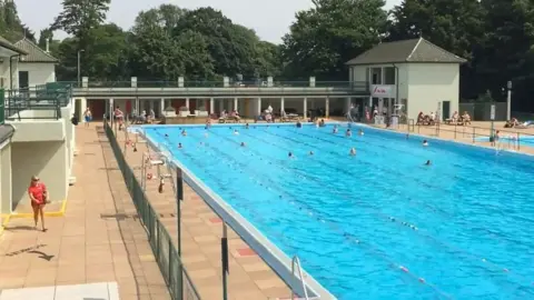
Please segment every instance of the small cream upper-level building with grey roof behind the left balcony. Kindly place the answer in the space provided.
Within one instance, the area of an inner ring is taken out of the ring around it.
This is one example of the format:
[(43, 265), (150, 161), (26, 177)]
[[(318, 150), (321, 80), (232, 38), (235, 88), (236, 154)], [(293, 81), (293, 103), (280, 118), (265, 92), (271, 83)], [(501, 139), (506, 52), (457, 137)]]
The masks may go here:
[[(56, 82), (56, 64), (58, 60), (28, 39), (22, 39), (14, 46), (28, 54), (21, 56), (18, 63), (18, 87), (33, 88), (48, 82)], [(47, 46), (48, 47), (48, 46)]]

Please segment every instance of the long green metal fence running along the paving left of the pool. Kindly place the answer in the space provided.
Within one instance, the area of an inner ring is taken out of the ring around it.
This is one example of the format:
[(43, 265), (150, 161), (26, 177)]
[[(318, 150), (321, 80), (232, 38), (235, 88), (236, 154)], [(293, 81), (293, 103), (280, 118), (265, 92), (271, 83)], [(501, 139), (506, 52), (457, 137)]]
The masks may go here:
[(159, 217), (154, 210), (152, 206), (149, 203), (132, 169), (126, 162), (125, 156), (116, 139), (113, 130), (107, 120), (103, 121), (103, 127), (106, 130), (106, 136), (109, 139), (109, 143), (111, 144), (111, 149), (113, 149), (119, 169), (125, 178), (128, 191), (134, 199), (139, 218), (148, 231), (150, 246), (161, 274), (164, 276), (169, 288), (170, 296), (174, 300), (199, 300), (200, 296), (198, 294), (191, 279), (187, 274), (187, 271), (181, 263), (178, 250), (176, 249), (169, 232), (159, 220)]

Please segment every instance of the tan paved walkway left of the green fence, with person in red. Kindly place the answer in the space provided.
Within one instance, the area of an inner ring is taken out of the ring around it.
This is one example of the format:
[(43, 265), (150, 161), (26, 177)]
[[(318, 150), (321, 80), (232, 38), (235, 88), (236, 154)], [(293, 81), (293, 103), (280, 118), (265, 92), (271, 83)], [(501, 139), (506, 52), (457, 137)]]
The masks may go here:
[[(121, 300), (170, 299), (144, 227), (118, 216), (136, 209), (103, 131), (79, 126), (76, 134), (77, 183), (69, 189), (65, 217), (47, 218), (47, 232), (33, 230), (31, 219), (10, 219), (0, 237), (2, 297), (21, 292), (11, 289), (52, 289), (57, 296), (62, 286), (111, 282)], [(99, 299), (95, 292), (101, 288), (81, 288), (78, 296)]]

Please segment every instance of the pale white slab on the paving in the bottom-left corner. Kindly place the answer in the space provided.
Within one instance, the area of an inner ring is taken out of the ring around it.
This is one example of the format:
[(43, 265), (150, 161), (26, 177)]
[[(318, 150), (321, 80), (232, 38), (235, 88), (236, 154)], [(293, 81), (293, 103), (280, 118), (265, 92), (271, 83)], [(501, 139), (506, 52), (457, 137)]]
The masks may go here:
[(0, 300), (119, 300), (117, 282), (52, 286), (0, 291)]

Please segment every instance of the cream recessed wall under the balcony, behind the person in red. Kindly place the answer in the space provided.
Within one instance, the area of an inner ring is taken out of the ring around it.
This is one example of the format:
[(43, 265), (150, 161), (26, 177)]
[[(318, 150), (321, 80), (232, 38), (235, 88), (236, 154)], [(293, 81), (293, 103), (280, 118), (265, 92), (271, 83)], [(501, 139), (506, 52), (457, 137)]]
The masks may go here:
[(38, 176), (50, 192), (51, 201), (67, 198), (68, 152), (66, 141), (11, 143), (12, 203), (28, 202), (28, 187), (32, 176)]

